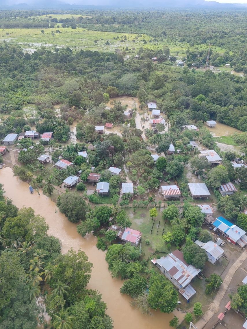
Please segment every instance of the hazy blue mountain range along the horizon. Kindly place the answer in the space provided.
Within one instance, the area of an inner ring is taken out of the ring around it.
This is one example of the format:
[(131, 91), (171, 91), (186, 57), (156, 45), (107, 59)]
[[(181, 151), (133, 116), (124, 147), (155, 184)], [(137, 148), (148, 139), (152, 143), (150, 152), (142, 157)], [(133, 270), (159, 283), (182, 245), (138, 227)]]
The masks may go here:
[[(73, 1), (73, 0), (71, 0)], [(76, 1), (76, 0), (75, 0)], [(78, 0), (77, 0), (78, 2)], [(239, 3), (219, 3), (216, 1), (205, 1), (205, 0), (82, 0), (82, 4), (69, 4), (65, 1), (59, 0), (27, 0), (25, 3), (18, 3), (9, 5), (8, 0), (1, 0), (0, 9), (86, 9), (86, 8), (150, 8), (150, 9), (165, 9), (165, 8), (214, 8), (214, 9), (230, 9), (230, 8), (247, 8), (246, 4)]]

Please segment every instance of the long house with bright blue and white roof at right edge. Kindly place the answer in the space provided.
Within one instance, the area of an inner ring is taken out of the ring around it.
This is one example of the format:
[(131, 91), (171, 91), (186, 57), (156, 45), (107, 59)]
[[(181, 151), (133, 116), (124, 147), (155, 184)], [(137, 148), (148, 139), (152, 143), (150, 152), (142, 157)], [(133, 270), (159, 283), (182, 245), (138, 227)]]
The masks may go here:
[(242, 248), (247, 244), (246, 232), (229, 222), (226, 218), (222, 216), (216, 218), (212, 226), (214, 227), (214, 232), (221, 232), (229, 242), (238, 244)]

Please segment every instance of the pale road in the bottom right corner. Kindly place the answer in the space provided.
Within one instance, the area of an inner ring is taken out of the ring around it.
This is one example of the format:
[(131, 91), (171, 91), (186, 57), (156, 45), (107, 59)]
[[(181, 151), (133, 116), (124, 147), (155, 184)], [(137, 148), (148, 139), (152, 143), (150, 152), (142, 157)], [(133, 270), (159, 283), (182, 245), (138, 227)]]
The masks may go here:
[[(247, 250), (244, 250), (243, 253), (238, 257), (235, 263), (230, 267), (225, 279), (223, 280), (220, 289), (215, 296), (213, 302), (211, 303), (208, 311), (204, 314), (204, 316), (196, 323), (197, 329), (211, 329), (215, 323), (217, 322), (217, 315), (219, 311), (225, 311), (224, 306), (229, 301), (229, 297), (225, 297), (225, 293), (230, 282), (233, 279), (233, 275), (239, 266), (246, 260), (247, 258)], [(224, 304), (224, 305), (223, 305)]]

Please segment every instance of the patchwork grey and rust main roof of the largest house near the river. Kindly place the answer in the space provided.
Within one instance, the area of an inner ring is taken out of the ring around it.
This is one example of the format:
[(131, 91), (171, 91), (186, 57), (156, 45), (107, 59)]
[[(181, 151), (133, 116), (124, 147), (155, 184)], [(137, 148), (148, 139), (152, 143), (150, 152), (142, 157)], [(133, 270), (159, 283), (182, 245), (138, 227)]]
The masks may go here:
[[(157, 259), (156, 263), (163, 267), (179, 283), (181, 288), (186, 287), (201, 272), (199, 268), (188, 265), (183, 259), (183, 254), (178, 249), (166, 257)], [(174, 267), (177, 271), (174, 271)]]

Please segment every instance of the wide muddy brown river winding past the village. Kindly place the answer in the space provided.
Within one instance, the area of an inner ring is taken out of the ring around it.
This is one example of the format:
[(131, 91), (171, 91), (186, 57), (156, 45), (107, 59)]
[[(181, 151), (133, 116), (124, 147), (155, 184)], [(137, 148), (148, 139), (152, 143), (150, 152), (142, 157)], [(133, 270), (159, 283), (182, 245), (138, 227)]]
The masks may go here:
[[(48, 233), (59, 238), (62, 242), (62, 252), (66, 253), (71, 247), (75, 250), (81, 248), (93, 263), (89, 289), (95, 289), (102, 294), (102, 299), (107, 304), (107, 313), (114, 320), (115, 329), (169, 329), (169, 321), (173, 314), (162, 314), (153, 311), (153, 316), (141, 314), (141, 312), (130, 306), (131, 298), (122, 295), (119, 291), (123, 281), (112, 278), (105, 261), (104, 252), (96, 248), (96, 237), (89, 235), (86, 239), (79, 236), (76, 224), (70, 223), (68, 219), (59, 212), (55, 203), (43, 194), (38, 195), (36, 191), (30, 194), (28, 184), (13, 176), (9, 167), (0, 170), (0, 183), (4, 185), (5, 197), (13, 200), (13, 203), (21, 208), (32, 207), (36, 214), (43, 216), (49, 225)], [(182, 298), (179, 295), (179, 298)], [(174, 313), (179, 319), (184, 314)]]

